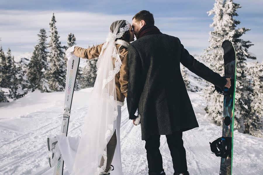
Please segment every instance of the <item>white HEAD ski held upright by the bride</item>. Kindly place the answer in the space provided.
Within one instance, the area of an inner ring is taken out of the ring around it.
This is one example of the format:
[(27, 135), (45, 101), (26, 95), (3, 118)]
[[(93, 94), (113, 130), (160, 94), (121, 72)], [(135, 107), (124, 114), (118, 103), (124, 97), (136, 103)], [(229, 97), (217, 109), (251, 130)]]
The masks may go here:
[[(62, 124), (60, 129), (60, 135), (68, 135), (68, 123), (70, 118), (70, 110), (72, 104), (72, 97), (74, 93), (76, 76), (79, 68), (79, 57), (73, 56), (72, 60), (68, 60), (67, 66), (67, 77), (66, 77), (66, 87), (65, 87), (65, 101), (64, 101), (64, 113), (62, 117)], [(60, 155), (55, 166), (53, 175), (63, 174), (63, 157)]]

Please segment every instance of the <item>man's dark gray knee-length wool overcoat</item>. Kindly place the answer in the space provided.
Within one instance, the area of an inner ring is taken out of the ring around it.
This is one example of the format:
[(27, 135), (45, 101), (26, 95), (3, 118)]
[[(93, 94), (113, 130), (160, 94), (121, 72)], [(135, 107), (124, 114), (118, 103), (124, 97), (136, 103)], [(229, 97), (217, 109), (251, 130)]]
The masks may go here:
[(153, 34), (139, 38), (128, 47), (129, 118), (141, 115), (142, 140), (198, 127), (180, 71), (180, 62), (196, 75), (219, 87), (226, 78), (194, 59), (179, 38)]

